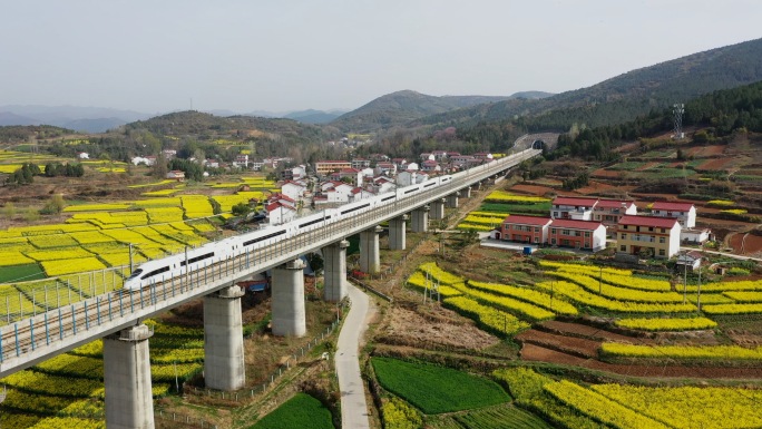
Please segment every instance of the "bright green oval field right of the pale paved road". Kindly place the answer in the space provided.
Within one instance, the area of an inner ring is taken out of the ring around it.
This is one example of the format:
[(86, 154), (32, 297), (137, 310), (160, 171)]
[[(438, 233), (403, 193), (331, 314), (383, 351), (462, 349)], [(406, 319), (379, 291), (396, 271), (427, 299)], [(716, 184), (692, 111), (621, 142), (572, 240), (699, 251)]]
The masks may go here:
[(373, 358), (381, 386), (427, 415), (482, 408), (510, 401), (490, 380), (449, 368)]

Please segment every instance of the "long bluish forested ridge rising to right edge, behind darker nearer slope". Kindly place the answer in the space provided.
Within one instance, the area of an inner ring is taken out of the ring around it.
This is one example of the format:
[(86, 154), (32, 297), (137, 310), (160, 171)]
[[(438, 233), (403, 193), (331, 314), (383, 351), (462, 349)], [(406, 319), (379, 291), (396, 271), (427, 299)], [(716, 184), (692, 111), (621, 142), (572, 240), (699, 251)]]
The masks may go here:
[[(529, 128), (616, 124), (702, 94), (762, 80), (762, 39), (693, 53), (633, 70), (588, 88), (543, 99), (511, 99), (429, 116), (409, 126), (473, 125), (515, 116)], [(543, 119), (534, 117), (544, 115)]]

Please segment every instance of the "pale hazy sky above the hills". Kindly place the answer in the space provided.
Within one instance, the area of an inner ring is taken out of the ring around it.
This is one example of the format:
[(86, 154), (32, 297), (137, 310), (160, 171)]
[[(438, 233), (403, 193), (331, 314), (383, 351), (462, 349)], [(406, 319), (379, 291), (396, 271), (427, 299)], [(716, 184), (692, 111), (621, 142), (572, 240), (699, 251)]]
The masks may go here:
[(160, 113), (560, 92), (762, 37), (760, 0), (2, 0), (0, 105)]

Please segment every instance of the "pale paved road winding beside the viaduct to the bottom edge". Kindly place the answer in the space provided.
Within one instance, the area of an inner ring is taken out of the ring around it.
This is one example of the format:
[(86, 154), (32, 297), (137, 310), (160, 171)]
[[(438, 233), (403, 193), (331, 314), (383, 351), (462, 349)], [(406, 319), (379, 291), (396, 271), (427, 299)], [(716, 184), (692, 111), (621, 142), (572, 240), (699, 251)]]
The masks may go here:
[(360, 340), (368, 328), (368, 319), (375, 310), (370, 308), (368, 295), (352, 284), (349, 284), (349, 296), (352, 306), (339, 334), (335, 355), (341, 390), (341, 427), (364, 429), (370, 428), (370, 422), (365, 403), (365, 383), (360, 377), (358, 354)]

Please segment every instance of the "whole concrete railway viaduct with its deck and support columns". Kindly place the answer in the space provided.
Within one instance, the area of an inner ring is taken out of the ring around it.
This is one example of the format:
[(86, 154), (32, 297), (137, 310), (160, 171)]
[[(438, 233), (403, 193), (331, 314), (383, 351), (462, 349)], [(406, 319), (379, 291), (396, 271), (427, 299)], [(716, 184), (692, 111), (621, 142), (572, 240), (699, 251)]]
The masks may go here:
[(107, 427), (153, 428), (148, 349), (153, 332), (143, 321), (203, 299), (206, 386), (227, 391), (241, 389), (245, 383), (243, 291), (235, 283), (272, 270), (273, 333), (304, 335), (301, 255), (322, 250), (324, 299), (340, 301), (346, 295), (345, 237), (360, 234), (361, 270), (379, 271), (379, 223), (389, 221), (391, 248), (406, 248), (408, 218), (411, 231), (426, 232), (429, 217), (441, 218), (444, 206), (457, 207), (459, 197), (470, 197), (472, 186), (496, 178), (541, 153), (534, 144), (536, 140), (525, 140), (524, 148), (515, 146), (509, 156), (455, 174), (444, 185), (410, 197), (402, 194), (389, 204), (279, 241), (264, 250), (236, 254), (187, 275), (163, 279), (140, 292), (113, 291), (11, 321), (0, 328), (0, 378), (102, 338)]

